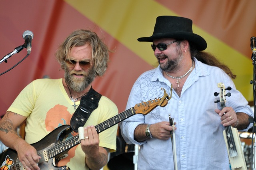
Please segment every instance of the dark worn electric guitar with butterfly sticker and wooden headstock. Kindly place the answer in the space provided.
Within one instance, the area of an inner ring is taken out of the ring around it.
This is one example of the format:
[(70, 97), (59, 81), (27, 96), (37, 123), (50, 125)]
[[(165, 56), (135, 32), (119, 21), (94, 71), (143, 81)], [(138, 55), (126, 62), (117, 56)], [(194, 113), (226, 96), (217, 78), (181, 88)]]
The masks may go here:
[[(146, 115), (157, 106), (165, 107), (171, 97), (168, 96), (165, 89), (161, 89), (164, 91), (162, 98), (150, 99), (147, 102), (136, 104), (134, 107), (96, 125), (95, 128), (97, 132), (100, 133), (132, 115), (138, 113)], [(55, 165), (58, 163), (59, 159), (70, 150), (70, 148), (80, 144), (79, 135), (64, 140), (71, 132), (72, 128), (70, 125), (62, 125), (50, 132), (42, 138), (42, 140), (31, 144), (36, 148), (38, 156), (41, 156), (41, 159), (38, 162), (40, 170), (70, 170), (68, 166), (58, 167)], [(0, 163), (2, 163), (0, 170), (25, 170), (22, 163), (18, 160), (17, 152), (10, 148), (4, 150), (4, 152), (0, 154)]]

